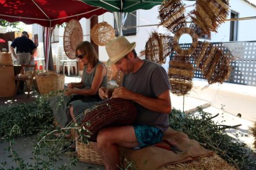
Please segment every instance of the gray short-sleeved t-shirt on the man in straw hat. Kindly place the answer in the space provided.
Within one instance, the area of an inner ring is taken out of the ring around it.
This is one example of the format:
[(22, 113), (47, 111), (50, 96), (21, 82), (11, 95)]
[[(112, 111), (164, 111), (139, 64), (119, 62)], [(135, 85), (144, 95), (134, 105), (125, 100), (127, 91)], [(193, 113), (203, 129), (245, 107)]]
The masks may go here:
[[(122, 85), (130, 91), (147, 97), (156, 98), (163, 92), (171, 89), (169, 78), (161, 65), (144, 60), (142, 67), (136, 73), (125, 74)], [(148, 124), (160, 128), (163, 132), (169, 126), (168, 114), (148, 110), (135, 103), (137, 108), (137, 124)]]

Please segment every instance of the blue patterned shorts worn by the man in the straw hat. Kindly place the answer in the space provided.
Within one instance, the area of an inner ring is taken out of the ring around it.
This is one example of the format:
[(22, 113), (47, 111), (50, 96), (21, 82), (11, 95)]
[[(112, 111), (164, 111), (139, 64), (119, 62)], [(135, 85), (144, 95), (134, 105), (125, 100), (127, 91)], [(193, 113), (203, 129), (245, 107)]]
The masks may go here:
[(134, 131), (140, 144), (139, 148), (159, 143), (163, 138), (161, 129), (147, 124), (135, 124)]

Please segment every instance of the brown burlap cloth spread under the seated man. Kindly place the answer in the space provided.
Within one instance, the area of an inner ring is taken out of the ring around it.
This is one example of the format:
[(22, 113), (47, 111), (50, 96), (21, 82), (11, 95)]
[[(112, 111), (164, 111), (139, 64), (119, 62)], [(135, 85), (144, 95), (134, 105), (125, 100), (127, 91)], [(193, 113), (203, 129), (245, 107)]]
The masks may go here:
[[(183, 132), (169, 129), (164, 133), (163, 139), (171, 141), (181, 153), (174, 153), (171, 150), (156, 147), (149, 147), (134, 150), (131, 148), (120, 148), (128, 160), (133, 160), (138, 169), (160, 169), (169, 164), (182, 163), (189, 160), (196, 160), (202, 156), (213, 155), (213, 151), (203, 148), (197, 141), (189, 139)], [(166, 145), (166, 143), (163, 143)]]

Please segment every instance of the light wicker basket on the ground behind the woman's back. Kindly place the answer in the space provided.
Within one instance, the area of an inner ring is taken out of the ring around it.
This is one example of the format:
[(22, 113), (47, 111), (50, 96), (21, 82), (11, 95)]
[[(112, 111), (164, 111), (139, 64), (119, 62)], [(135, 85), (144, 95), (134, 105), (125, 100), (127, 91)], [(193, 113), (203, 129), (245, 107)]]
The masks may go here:
[(64, 89), (65, 75), (57, 75), (54, 71), (47, 71), (36, 75), (36, 84), (40, 94), (49, 94), (51, 91)]

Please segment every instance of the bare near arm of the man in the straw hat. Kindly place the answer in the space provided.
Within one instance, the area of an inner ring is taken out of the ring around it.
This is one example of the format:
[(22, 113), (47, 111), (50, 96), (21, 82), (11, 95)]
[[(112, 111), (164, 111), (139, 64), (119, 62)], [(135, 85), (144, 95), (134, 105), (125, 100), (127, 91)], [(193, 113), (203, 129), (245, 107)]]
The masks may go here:
[(146, 97), (145, 95), (129, 91), (124, 87), (117, 87), (113, 91), (112, 98), (133, 100), (134, 102), (137, 102), (143, 107), (152, 111), (158, 111), (168, 114), (171, 112), (171, 97), (169, 94), (169, 90), (158, 95), (158, 97), (156, 98), (150, 98)]

